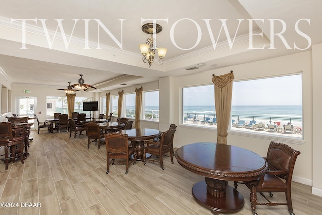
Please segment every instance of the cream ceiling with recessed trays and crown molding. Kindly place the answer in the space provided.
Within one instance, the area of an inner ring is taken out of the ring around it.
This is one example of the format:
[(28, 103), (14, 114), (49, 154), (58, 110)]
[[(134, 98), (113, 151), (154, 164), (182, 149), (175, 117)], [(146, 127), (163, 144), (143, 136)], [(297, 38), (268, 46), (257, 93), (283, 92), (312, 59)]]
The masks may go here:
[[(59, 88), (83, 74), (98, 90), (189, 75), (309, 50), (322, 42), (321, 9), (319, 0), (5, 1), (0, 73), (14, 85)], [(148, 68), (138, 45), (149, 37), (141, 26), (151, 19), (162, 25), (157, 46), (168, 52), (162, 66)], [(227, 32), (220, 32), (224, 19)], [(285, 32), (272, 37), (272, 29)], [(200, 63), (206, 66), (186, 70)]]

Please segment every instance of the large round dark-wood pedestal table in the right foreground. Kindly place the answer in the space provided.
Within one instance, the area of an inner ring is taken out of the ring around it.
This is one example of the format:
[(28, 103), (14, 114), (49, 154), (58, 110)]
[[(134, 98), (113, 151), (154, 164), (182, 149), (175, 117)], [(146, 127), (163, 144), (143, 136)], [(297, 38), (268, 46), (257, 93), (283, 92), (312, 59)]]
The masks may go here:
[(182, 167), (206, 177), (193, 186), (192, 195), (213, 214), (237, 212), (244, 206), (243, 196), (228, 181), (255, 180), (268, 168), (264, 158), (252, 151), (211, 142), (182, 146), (175, 157)]

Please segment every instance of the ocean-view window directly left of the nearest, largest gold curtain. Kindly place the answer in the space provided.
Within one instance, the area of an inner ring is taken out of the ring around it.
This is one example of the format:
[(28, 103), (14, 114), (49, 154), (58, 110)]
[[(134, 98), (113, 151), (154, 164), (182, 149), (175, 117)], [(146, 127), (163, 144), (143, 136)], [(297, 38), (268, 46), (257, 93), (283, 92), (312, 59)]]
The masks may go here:
[(216, 126), (214, 85), (182, 88), (183, 124)]

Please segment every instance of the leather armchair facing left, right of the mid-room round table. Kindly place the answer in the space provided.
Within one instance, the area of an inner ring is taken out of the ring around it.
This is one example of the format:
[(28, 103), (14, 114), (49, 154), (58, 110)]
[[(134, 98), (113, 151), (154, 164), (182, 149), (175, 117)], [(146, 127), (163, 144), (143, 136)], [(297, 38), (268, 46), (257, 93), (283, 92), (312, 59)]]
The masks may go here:
[(146, 144), (146, 147), (144, 148), (143, 151), (143, 162), (144, 165), (146, 165), (146, 153), (150, 153), (152, 155), (156, 155), (159, 157), (159, 163), (161, 166), (161, 169), (165, 169), (163, 167), (163, 159), (162, 156), (170, 152), (170, 158), (171, 158), (171, 163), (173, 163), (173, 137), (175, 135), (176, 130), (167, 130), (166, 132), (163, 132), (160, 137), (159, 142), (149, 142), (146, 141), (144, 144)]

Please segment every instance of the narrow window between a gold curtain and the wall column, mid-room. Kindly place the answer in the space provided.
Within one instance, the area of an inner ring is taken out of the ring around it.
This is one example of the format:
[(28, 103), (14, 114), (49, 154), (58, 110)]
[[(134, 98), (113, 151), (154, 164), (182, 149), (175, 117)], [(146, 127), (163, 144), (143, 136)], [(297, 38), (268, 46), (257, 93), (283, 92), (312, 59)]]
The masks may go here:
[(159, 121), (159, 91), (147, 91), (144, 97), (144, 119)]

